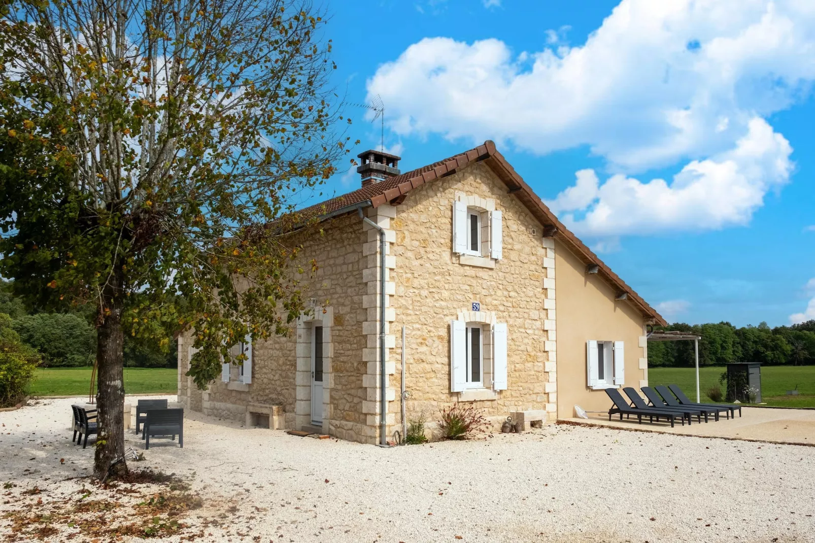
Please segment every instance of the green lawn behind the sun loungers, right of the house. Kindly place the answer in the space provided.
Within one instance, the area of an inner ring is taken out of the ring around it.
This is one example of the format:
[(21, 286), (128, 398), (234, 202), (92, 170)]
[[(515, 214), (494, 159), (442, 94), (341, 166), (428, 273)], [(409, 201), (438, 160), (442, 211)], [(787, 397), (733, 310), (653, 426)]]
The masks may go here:
[[(710, 402), (707, 389), (719, 383), (725, 368), (699, 368), (699, 391), (703, 402)], [(691, 400), (696, 399), (696, 376), (693, 368), (649, 368), (648, 384), (677, 384)], [(788, 396), (798, 385), (800, 395)], [(724, 388), (724, 387), (723, 387)], [(764, 366), (761, 368), (761, 395), (768, 405), (815, 408), (815, 366)]]

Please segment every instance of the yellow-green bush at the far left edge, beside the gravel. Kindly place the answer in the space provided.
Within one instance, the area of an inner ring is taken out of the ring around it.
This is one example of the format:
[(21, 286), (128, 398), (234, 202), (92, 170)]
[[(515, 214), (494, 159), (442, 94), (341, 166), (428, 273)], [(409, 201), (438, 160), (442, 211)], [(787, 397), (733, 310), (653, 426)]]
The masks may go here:
[(11, 328), (11, 317), (0, 313), (0, 407), (22, 400), (39, 362), (37, 353)]

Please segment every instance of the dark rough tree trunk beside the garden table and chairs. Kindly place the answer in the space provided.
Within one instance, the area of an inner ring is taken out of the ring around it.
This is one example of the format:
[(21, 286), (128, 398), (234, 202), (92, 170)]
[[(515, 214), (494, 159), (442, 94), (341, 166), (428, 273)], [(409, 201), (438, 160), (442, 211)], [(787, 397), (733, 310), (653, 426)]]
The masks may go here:
[[(125, 462), (125, 386), (122, 367), (124, 334), (121, 329), (121, 282), (112, 274), (105, 288), (105, 307), (97, 328), (96, 364), (99, 435), (96, 440), (94, 474), (99, 479), (127, 472)], [(108, 473), (109, 472), (109, 473)]]

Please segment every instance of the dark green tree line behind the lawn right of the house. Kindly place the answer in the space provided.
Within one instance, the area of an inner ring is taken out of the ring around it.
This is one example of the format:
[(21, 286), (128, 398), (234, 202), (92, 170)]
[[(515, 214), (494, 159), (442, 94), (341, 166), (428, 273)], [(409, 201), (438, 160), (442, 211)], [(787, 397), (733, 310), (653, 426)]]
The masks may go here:
[[(699, 365), (720, 366), (729, 362), (760, 362), (766, 365), (815, 364), (815, 320), (770, 328), (766, 322), (736, 328), (729, 322), (674, 323), (659, 328), (702, 336)], [(649, 342), (648, 365), (690, 367), (694, 365), (694, 342)]]

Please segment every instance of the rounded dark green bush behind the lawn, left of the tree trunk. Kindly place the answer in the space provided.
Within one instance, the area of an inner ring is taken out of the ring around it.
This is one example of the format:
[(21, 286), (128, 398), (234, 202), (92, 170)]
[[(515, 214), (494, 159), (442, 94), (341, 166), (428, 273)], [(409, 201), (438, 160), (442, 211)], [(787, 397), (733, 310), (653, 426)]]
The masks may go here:
[(46, 368), (93, 365), (96, 330), (70, 313), (37, 313), (14, 321), (20, 339), (42, 355)]

